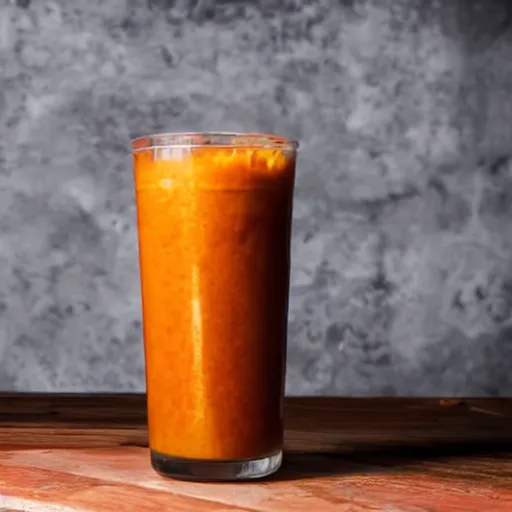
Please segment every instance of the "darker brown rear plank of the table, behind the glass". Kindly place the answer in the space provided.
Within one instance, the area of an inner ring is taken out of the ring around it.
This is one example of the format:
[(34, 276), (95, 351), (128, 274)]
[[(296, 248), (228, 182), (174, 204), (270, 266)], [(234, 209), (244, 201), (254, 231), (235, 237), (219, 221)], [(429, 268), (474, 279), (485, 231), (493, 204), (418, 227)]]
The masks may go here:
[[(512, 443), (507, 399), (288, 397), (284, 416), (290, 452)], [(147, 446), (145, 397), (0, 394), (2, 444)]]

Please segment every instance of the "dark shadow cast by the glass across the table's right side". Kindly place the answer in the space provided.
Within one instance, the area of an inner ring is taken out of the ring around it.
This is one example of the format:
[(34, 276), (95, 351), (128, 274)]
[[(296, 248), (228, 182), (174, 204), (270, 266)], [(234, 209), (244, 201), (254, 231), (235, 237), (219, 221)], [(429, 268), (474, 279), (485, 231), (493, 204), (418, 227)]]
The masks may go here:
[(512, 444), (436, 444), (365, 448), (350, 453), (291, 453), (285, 455), (281, 470), (266, 481), (414, 473), (494, 483), (499, 479), (512, 488)]

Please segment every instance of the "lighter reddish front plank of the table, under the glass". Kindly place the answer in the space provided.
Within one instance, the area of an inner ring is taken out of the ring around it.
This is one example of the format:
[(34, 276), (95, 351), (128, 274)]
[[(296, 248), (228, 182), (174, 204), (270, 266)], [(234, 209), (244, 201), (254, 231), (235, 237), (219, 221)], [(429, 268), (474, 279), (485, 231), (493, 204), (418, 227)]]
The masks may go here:
[(34, 510), (42, 511), (59, 505), (105, 512), (121, 506), (127, 511), (172, 506), (178, 511), (501, 512), (512, 510), (512, 488), (505, 482), (512, 464), (506, 455), (493, 455), (498, 466), (489, 454), (371, 463), (289, 455), (283, 470), (265, 482), (196, 484), (158, 476), (145, 448), (0, 450), (0, 482), (10, 507), (25, 500), (39, 503)]

